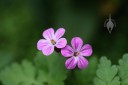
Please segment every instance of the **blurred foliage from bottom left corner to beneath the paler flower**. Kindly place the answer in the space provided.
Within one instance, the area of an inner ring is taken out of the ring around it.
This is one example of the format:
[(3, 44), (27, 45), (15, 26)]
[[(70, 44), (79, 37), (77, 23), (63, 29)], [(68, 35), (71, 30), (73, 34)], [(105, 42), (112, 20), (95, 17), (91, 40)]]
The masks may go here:
[(67, 70), (62, 62), (63, 57), (57, 54), (49, 57), (42, 55), (39, 53), (35, 60), (37, 66), (23, 60), (21, 64), (13, 63), (6, 67), (0, 72), (0, 80), (4, 85), (64, 85)]

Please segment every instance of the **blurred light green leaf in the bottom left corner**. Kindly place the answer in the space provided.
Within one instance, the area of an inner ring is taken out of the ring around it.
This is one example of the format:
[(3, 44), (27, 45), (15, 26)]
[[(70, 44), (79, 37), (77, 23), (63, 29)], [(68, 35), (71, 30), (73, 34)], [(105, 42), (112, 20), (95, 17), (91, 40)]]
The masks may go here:
[(0, 72), (0, 80), (4, 85), (42, 85), (42, 82), (36, 80), (36, 72), (33, 64), (23, 60), (21, 65), (13, 63)]

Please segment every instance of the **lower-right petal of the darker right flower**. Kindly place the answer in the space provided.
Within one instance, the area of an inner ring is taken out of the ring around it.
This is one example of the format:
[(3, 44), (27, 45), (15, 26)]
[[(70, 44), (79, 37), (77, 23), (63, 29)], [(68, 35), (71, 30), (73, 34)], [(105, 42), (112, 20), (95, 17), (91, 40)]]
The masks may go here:
[(79, 69), (83, 69), (86, 68), (88, 66), (88, 60), (85, 59), (82, 56), (79, 56), (79, 60), (78, 60), (78, 68)]

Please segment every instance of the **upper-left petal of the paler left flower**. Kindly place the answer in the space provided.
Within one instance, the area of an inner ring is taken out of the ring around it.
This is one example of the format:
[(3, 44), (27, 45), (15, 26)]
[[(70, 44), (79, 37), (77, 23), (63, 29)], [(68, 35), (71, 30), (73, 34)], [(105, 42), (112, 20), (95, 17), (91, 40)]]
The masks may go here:
[(48, 40), (53, 39), (54, 38), (54, 29), (53, 28), (49, 28), (49, 29), (45, 30), (43, 32), (43, 37), (45, 39), (48, 39)]

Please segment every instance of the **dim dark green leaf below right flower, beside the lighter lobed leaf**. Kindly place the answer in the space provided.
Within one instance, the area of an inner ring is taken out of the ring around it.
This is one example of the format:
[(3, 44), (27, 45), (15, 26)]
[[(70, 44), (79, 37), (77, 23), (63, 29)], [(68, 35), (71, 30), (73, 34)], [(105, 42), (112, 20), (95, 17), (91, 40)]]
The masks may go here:
[(98, 64), (97, 57), (91, 57), (89, 60), (89, 65), (86, 69), (76, 70), (75, 77), (77, 84), (75, 85), (92, 85), (93, 78), (95, 76), (96, 68)]

